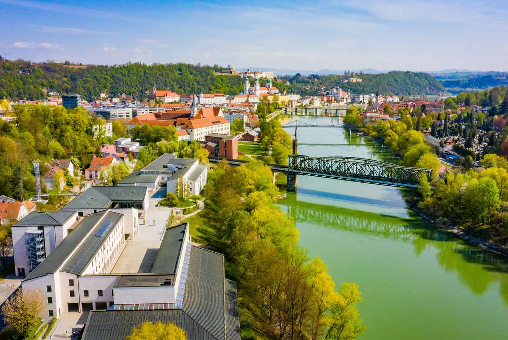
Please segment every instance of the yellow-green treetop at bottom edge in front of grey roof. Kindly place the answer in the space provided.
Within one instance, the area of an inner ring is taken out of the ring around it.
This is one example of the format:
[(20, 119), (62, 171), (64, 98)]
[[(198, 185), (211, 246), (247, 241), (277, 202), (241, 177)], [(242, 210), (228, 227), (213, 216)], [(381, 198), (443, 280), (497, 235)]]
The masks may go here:
[(185, 332), (173, 323), (143, 321), (139, 328), (134, 326), (125, 340), (185, 340)]

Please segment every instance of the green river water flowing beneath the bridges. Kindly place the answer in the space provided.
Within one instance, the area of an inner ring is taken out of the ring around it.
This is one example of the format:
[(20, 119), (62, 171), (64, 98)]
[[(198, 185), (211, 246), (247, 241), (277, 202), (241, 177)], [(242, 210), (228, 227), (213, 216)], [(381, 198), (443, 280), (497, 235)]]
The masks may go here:
[[(341, 118), (280, 119), (328, 125)], [(339, 128), (300, 128), (298, 143), (308, 156), (395, 162), (386, 147)], [(508, 261), (433, 229), (406, 208), (404, 193), (410, 191), (298, 176), (297, 192), (277, 204), (295, 220), (309, 257), (328, 265), (337, 288), (359, 286), (367, 326), (360, 339), (508, 338)]]

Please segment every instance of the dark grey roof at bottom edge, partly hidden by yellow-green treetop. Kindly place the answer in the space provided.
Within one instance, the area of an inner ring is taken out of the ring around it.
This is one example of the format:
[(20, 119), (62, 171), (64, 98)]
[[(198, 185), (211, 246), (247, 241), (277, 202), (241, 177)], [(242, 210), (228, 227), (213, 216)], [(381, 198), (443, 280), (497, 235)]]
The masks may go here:
[(187, 340), (217, 340), (180, 309), (156, 311), (91, 311), (86, 320), (83, 340), (124, 340), (134, 326), (143, 321), (174, 323), (185, 332)]

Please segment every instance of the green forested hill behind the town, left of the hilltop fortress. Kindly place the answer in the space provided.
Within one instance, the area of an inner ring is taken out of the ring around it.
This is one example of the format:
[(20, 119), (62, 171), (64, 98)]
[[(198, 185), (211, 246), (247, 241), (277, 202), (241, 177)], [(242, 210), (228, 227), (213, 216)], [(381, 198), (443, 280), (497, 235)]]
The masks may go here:
[(240, 77), (215, 76), (219, 66), (191, 64), (127, 63), (123, 65), (61, 65), (30, 63), (26, 60), (0, 61), (0, 97), (11, 100), (44, 98), (43, 89), (60, 94), (80, 94), (90, 101), (106, 92), (110, 96), (124, 93), (143, 100), (158, 89), (177, 94), (218, 92), (237, 95), (243, 90)]

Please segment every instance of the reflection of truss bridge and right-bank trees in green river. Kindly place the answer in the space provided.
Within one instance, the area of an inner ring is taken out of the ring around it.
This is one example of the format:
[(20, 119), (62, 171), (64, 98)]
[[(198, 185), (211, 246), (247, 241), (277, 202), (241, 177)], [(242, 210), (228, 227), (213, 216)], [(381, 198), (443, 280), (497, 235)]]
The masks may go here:
[[(326, 193), (323, 191), (299, 189), (298, 194), (312, 194), (320, 197), (343, 199), (348, 195)], [(368, 233), (409, 242), (414, 252), (421, 255), (427, 249), (436, 251), (436, 260), (446, 271), (456, 272), (459, 281), (475, 294), (485, 293), (495, 282), (500, 284), (500, 295), (508, 305), (508, 276), (494, 275), (508, 273), (508, 261), (486, 250), (479, 249), (453, 234), (430, 227), (416, 214), (409, 218), (397, 218), (367, 211), (351, 210), (342, 207), (298, 201), (296, 194), (288, 193), (288, 198), (277, 204), (297, 223), (317, 224), (322, 227), (347, 230), (355, 233)], [(352, 196), (357, 199), (356, 196)], [(378, 200), (358, 198), (359, 201)], [(374, 203), (373, 203), (374, 204)], [(470, 265), (471, 263), (477, 265)]]

